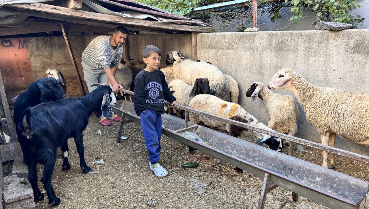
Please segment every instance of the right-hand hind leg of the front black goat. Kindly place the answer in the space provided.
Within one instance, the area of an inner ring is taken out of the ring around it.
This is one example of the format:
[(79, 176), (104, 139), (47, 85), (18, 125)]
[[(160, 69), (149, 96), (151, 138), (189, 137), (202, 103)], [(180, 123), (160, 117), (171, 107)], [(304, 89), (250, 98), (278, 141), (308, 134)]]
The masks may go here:
[(56, 154), (52, 152), (47, 154), (47, 161), (45, 162), (41, 182), (45, 186), (47, 197), (49, 198), (49, 204), (56, 206), (60, 204), (60, 198), (56, 197), (54, 188), (51, 185), (51, 177), (55, 167)]

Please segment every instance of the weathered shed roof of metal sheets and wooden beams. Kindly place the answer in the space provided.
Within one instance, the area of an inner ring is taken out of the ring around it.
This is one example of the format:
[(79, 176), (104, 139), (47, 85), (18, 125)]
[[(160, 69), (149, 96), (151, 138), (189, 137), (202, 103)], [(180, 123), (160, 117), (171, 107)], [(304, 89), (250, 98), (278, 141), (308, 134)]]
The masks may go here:
[[(78, 0), (76, 0), (78, 1)], [(156, 32), (214, 32), (207, 24), (132, 0), (82, 0), (80, 8), (67, 8), (64, 0), (4, 0), (0, 1), (0, 36), (15, 32), (6, 28), (29, 27), (29, 33), (37, 31), (32, 22), (63, 21), (114, 28), (124, 25), (131, 30)], [(25, 18), (27, 17), (28, 18)], [(34, 30), (32, 30), (32, 28)], [(71, 26), (73, 28), (73, 26)], [(44, 32), (46, 28), (40, 28)], [(16, 31), (16, 29), (12, 29)], [(20, 33), (27, 31), (19, 31)]]

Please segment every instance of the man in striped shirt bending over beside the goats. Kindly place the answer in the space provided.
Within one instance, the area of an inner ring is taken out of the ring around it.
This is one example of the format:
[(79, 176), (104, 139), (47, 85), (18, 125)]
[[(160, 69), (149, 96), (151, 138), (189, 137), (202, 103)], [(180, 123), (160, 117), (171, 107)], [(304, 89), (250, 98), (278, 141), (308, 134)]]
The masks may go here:
[[(96, 83), (110, 84), (115, 93), (118, 92), (118, 87), (122, 88), (115, 80), (114, 74), (122, 59), (123, 44), (126, 42), (127, 36), (127, 29), (118, 26), (112, 36), (97, 36), (82, 52), (83, 75), (89, 92), (96, 89), (96, 87), (91, 87), (92, 84)], [(120, 122), (121, 119), (119, 115), (114, 115), (112, 121)], [(109, 126), (112, 123), (104, 115), (101, 115), (100, 124)]]

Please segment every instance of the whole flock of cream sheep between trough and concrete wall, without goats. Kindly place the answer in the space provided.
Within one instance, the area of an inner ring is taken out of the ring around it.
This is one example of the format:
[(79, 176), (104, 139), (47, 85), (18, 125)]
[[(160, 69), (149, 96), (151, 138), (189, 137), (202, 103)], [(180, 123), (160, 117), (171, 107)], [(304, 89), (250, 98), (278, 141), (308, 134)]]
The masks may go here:
[[(323, 145), (334, 146), (337, 134), (349, 142), (369, 146), (368, 92), (351, 93), (318, 87), (293, 70), (284, 68), (273, 76), (267, 86), (261, 82), (254, 82), (246, 92), (246, 96), (251, 100), (260, 98), (264, 102), (269, 116), (268, 126), (266, 126), (237, 104), (238, 83), (231, 76), (223, 74), (215, 65), (202, 60), (185, 59), (180, 51), (168, 53), (166, 64), (169, 66), (160, 70), (164, 73), (168, 86), (177, 98), (177, 104), (293, 136), (297, 131), (299, 117), (299, 109), (294, 97), (271, 91), (284, 89), (295, 95), (308, 122), (319, 132)], [(144, 69), (145, 66), (131, 60), (119, 67), (125, 70), (127, 68), (132, 68), (135, 72)], [(131, 82), (132, 80), (129, 84)], [(134, 89), (131, 88), (131, 90)], [(181, 111), (174, 110), (174, 113), (183, 118)], [(266, 144), (267, 147), (276, 151), (282, 151), (286, 145), (290, 154), (290, 143), (283, 143), (279, 138), (225, 124), (194, 113), (190, 113), (189, 119), (193, 123), (224, 130), (232, 136), (254, 135), (261, 138), (258, 144)], [(328, 162), (327, 153), (323, 152), (322, 166), (335, 167), (333, 154), (330, 155)]]

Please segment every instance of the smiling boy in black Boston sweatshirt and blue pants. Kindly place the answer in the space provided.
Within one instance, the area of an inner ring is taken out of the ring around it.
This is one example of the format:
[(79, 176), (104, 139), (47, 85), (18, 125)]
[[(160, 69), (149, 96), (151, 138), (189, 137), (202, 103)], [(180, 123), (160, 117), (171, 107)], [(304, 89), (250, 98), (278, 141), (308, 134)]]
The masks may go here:
[(173, 106), (176, 98), (169, 90), (163, 72), (158, 70), (160, 50), (153, 45), (148, 45), (144, 48), (143, 56), (146, 68), (135, 78), (133, 106), (136, 114), (140, 116), (142, 133), (149, 152), (149, 168), (157, 177), (165, 177), (168, 172), (159, 164), (164, 99)]

